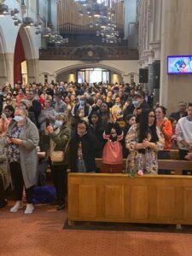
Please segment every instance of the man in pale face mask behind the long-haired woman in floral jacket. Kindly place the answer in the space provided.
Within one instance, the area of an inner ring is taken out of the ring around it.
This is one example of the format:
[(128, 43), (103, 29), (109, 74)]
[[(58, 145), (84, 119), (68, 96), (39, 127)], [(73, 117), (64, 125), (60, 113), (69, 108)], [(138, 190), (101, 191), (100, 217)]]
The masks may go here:
[(143, 90), (139, 92), (135, 92), (132, 97), (132, 104), (125, 108), (124, 118), (127, 114), (135, 114), (137, 112), (137, 108), (141, 108), (142, 112), (144, 109), (148, 109), (148, 103), (145, 101), (145, 93)]

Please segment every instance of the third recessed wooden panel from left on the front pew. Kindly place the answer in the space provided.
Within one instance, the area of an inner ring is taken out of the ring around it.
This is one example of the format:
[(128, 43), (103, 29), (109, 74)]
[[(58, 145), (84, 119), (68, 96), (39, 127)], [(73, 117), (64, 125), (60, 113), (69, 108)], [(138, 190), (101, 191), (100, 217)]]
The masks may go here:
[(148, 188), (131, 187), (131, 218), (148, 218)]

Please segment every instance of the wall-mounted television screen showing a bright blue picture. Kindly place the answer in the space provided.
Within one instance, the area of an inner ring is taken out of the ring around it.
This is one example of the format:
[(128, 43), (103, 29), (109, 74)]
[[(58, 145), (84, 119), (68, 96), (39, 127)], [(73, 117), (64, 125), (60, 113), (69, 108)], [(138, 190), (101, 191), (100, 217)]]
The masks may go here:
[(167, 56), (167, 74), (192, 74), (192, 55)]

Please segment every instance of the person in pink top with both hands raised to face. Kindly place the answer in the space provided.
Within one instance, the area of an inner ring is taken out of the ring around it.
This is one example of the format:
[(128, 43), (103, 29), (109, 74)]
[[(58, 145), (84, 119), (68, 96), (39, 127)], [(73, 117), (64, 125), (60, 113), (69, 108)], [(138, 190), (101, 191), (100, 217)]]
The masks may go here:
[(101, 172), (123, 172), (123, 148), (120, 141), (124, 133), (116, 120), (111, 117), (103, 133), (103, 138), (108, 140), (102, 150)]

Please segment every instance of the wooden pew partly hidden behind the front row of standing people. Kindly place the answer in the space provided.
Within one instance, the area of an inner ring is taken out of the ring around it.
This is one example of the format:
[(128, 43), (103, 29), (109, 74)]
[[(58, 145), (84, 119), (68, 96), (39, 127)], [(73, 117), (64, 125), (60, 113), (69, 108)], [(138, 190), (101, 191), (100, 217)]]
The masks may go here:
[[(96, 159), (96, 167), (101, 169), (102, 159)], [(158, 160), (158, 167), (160, 170), (170, 170), (172, 174), (182, 175), (182, 171), (192, 172), (192, 161), (188, 160)], [(123, 160), (123, 168), (126, 168), (126, 159)]]

